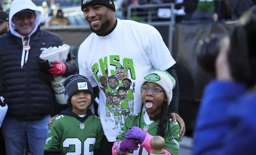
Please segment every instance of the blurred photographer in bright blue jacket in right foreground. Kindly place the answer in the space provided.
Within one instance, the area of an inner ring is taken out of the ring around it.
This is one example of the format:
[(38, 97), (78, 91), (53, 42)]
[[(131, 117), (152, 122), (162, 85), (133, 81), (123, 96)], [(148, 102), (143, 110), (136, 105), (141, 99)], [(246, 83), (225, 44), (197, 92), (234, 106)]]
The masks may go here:
[[(193, 155), (256, 154), (256, 6), (240, 21), (222, 39), (218, 53), (204, 54), (204, 60), (216, 56), (211, 59), (216, 79), (204, 91)], [(209, 69), (211, 64), (200, 66)]]

